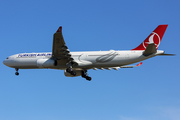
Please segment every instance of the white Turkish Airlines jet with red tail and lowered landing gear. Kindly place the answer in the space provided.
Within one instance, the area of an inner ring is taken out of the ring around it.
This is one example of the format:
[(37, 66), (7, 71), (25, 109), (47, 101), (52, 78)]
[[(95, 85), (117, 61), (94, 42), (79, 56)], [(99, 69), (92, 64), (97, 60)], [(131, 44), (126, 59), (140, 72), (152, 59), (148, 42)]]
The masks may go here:
[(157, 50), (168, 25), (159, 25), (138, 47), (128, 51), (91, 51), (70, 52), (65, 44), (60, 26), (53, 36), (52, 52), (45, 53), (19, 53), (9, 56), (3, 64), (15, 68), (16, 75), (19, 69), (60, 69), (64, 70), (67, 77), (82, 76), (91, 80), (88, 76), (89, 69), (118, 70), (119, 68), (133, 68), (140, 66), (126, 66), (157, 55), (165, 54)]

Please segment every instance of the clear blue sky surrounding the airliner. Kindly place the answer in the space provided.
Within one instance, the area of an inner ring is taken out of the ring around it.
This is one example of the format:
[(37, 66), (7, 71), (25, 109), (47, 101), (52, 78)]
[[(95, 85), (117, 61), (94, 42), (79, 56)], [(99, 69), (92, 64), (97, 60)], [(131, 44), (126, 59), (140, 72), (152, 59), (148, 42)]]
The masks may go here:
[(92, 81), (60, 70), (15, 70), (0, 64), (2, 120), (179, 120), (180, 1), (9, 0), (0, 4), (1, 56), (50, 52), (63, 26), (71, 51), (129, 50), (159, 24), (159, 49), (177, 54), (119, 71), (89, 70)]

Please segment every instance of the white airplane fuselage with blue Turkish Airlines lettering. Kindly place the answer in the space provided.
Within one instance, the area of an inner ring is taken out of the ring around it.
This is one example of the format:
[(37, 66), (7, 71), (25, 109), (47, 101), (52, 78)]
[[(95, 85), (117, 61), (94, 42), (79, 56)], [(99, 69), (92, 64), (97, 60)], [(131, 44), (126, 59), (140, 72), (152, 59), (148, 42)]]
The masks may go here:
[[(157, 53), (143, 55), (142, 50), (133, 51), (90, 51), (90, 52), (71, 52), (71, 56), (78, 65), (73, 69), (92, 69), (92, 68), (110, 68), (136, 63), (158, 54), (164, 53), (158, 50)], [(62, 63), (58, 66), (51, 64), (52, 53), (20, 53), (9, 56), (3, 61), (6, 66), (19, 69), (38, 69), (38, 68), (52, 68), (52, 69), (66, 69), (67, 65)], [(61, 60), (60, 60), (61, 61)], [(48, 65), (41, 65), (47, 63)]]

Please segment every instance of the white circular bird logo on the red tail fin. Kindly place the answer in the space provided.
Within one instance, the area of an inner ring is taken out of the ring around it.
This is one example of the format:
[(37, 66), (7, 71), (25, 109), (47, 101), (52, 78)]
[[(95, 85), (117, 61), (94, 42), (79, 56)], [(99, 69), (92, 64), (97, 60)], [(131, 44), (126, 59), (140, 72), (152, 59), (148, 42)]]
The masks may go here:
[(161, 42), (161, 39), (159, 37), (159, 35), (155, 32), (152, 32), (151, 35), (149, 36), (149, 38), (147, 38), (144, 42), (143, 42), (143, 47), (146, 49), (146, 47), (148, 46), (148, 44), (154, 43), (156, 46), (156, 49), (158, 48), (159, 44)]

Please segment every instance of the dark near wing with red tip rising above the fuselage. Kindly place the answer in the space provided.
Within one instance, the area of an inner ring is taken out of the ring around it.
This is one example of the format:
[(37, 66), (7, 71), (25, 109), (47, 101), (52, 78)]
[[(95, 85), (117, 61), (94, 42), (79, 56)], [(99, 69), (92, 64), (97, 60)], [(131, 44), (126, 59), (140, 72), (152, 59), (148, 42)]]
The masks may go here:
[[(64, 42), (62, 35), (62, 26), (54, 33), (53, 36), (53, 47), (52, 47), (52, 58), (57, 61), (57, 65), (67, 64), (72, 62), (74, 59), (71, 57), (70, 51)], [(61, 60), (61, 62), (59, 62)]]

